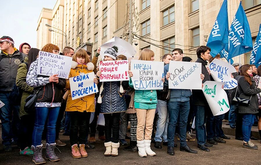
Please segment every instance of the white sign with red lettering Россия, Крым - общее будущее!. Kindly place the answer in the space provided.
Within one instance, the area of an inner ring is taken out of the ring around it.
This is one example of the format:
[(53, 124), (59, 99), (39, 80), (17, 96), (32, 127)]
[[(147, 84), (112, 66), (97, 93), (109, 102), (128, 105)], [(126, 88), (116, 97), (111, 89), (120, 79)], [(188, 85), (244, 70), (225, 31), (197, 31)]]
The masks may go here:
[(129, 80), (128, 60), (100, 61), (99, 69), (102, 72), (100, 81), (126, 81)]

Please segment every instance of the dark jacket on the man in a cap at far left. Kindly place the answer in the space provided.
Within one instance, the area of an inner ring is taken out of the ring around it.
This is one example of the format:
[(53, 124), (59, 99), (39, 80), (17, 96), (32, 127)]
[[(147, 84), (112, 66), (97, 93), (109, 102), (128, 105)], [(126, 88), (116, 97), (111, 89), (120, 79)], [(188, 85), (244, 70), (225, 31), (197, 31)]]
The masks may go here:
[(14, 53), (0, 53), (0, 91), (10, 91), (15, 85), (17, 68), (27, 55), (14, 48)]

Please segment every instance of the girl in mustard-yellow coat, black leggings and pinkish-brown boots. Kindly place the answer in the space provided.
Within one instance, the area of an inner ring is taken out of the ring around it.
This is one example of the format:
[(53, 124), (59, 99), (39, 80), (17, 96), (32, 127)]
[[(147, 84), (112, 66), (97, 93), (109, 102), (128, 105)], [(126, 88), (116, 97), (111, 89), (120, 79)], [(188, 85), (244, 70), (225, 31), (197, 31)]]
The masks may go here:
[[(93, 72), (94, 65), (84, 49), (79, 49), (73, 55), (73, 63), (70, 70), (69, 78), (78, 75)], [(98, 83), (97, 79), (93, 79), (94, 83)], [(88, 154), (85, 150), (85, 138), (88, 134), (89, 122), (91, 112), (95, 111), (94, 95), (90, 94), (75, 100), (72, 100), (70, 91), (70, 81), (66, 80), (66, 89), (68, 89), (68, 99), (66, 104), (66, 111), (69, 112), (71, 117), (70, 127), (70, 143), (72, 146), (73, 158), (87, 157)], [(79, 148), (78, 141), (78, 127), (79, 127)]]

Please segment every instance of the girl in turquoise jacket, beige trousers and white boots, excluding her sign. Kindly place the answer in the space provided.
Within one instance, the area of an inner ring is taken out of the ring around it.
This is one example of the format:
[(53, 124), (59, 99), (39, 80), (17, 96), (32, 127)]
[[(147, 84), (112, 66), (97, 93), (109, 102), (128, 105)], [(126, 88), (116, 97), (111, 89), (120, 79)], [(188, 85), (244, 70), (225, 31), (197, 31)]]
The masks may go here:
[[(154, 61), (154, 52), (150, 49), (143, 49), (139, 60)], [(128, 71), (129, 76), (133, 73)], [(165, 78), (161, 79), (163, 82)], [(130, 79), (129, 85), (133, 88), (133, 82)], [(137, 123), (137, 147), (140, 157), (155, 156), (156, 153), (151, 150), (151, 135), (153, 129), (153, 119), (157, 106), (156, 90), (135, 90), (134, 107), (136, 109)], [(145, 136), (144, 136), (145, 129)]]

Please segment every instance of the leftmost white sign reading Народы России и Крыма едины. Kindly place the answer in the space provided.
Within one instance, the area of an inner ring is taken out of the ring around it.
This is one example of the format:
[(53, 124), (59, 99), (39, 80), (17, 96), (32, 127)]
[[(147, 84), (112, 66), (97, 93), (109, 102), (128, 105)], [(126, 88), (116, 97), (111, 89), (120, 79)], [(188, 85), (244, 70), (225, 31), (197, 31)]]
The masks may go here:
[(39, 51), (37, 75), (58, 75), (60, 78), (68, 79), (73, 58)]

